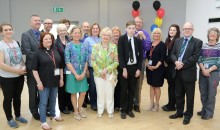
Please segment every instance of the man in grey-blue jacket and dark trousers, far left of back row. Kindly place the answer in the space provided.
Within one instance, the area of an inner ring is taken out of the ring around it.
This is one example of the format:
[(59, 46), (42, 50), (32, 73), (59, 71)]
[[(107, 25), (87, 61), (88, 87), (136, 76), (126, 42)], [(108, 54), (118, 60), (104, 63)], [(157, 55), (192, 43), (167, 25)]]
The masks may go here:
[(30, 17), (31, 29), (22, 33), (21, 37), (21, 47), (26, 55), (26, 68), (27, 68), (27, 85), (29, 91), (29, 109), (34, 119), (40, 120), (38, 113), (38, 90), (37, 83), (32, 74), (32, 60), (34, 53), (37, 52), (39, 48), (40, 40), (40, 26), (41, 21), (38, 15), (32, 15)]

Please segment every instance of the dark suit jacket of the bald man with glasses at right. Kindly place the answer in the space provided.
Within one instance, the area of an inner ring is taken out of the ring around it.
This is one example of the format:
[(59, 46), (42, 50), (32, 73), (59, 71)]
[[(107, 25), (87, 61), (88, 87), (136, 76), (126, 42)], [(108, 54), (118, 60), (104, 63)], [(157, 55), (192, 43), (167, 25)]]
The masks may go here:
[[(181, 46), (184, 38), (179, 38), (175, 41), (173, 50), (171, 52), (171, 60), (174, 62), (178, 60)], [(202, 48), (202, 41), (192, 37), (188, 42), (185, 54), (183, 56), (183, 68), (182, 71), (183, 80), (185, 82), (195, 82), (197, 79), (197, 67), (196, 62), (198, 61), (200, 51)], [(176, 70), (173, 69), (173, 76), (176, 75)]]

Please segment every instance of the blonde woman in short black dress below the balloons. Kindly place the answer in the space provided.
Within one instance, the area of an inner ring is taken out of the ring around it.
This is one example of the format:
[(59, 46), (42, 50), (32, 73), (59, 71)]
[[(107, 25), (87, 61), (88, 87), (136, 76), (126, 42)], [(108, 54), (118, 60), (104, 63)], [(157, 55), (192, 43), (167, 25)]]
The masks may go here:
[[(161, 95), (160, 87), (164, 83), (163, 62), (166, 54), (166, 47), (162, 40), (162, 31), (159, 28), (153, 30), (151, 34), (152, 46), (147, 54), (146, 73), (147, 83), (150, 85), (150, 106), (149, 111), (159, 110), (159, 100)], [(155, 101), (154, 101), (155, 100)]]

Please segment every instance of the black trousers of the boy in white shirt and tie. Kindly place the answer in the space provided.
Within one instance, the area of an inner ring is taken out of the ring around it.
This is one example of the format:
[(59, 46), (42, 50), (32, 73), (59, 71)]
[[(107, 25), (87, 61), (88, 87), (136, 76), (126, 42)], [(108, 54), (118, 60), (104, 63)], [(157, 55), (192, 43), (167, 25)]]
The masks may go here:
[(137, 65), (128, 65), (127, 79), (120, 75), (120, 86), (121, 86), (121, 95), (120, 95), (120, 105), (121, 112), (132, 111), (133, 103), (134, 103), (134, 92), (135, 87), (137, 86), (137, 78), (135, 77), (135, 73), (137, 71)]

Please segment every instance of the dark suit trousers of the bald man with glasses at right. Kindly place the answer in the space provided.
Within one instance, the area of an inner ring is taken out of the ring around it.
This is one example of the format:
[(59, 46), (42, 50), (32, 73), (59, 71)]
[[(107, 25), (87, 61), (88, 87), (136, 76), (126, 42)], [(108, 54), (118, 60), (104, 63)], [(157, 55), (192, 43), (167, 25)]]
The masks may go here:
[[(188, 75), (190, 76), (190, 75)], [(195, 82), (184, 82), (182, 71), (176, 72), (176, 108), (177, 114), (183, 114), (185, 95), (186, 95), (186, 111), (184, 112), (185, 118), (191, 119), (193, 116), (194, 96), (195, 96)]]

